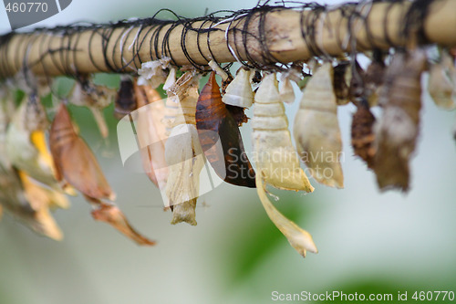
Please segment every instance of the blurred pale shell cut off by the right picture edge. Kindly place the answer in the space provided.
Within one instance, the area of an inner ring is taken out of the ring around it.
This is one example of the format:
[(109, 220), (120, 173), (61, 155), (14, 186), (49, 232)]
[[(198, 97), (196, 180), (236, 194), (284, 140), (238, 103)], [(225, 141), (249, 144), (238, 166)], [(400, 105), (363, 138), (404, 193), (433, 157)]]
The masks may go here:
[(439, 108), (456, 109), (456, 68), (445, 51), (441, 52), (440, 62), (430, 66), (428, 91)]

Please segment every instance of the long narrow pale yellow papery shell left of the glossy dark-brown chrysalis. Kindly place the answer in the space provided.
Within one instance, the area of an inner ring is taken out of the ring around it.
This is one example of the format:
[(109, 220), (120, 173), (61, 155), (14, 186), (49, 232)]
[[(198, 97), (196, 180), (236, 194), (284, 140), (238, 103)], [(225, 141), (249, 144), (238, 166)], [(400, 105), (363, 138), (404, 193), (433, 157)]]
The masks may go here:
[(186, 222), (196, 225), (195, 207), (205, 162), (195, 126), (198, 80), (198, 76), (187, 72), (167, 91), (167, 127), (171, 131), (165, 144), (169, 168), (165, 193), (168, 205), (173, 208), (171, 224)]

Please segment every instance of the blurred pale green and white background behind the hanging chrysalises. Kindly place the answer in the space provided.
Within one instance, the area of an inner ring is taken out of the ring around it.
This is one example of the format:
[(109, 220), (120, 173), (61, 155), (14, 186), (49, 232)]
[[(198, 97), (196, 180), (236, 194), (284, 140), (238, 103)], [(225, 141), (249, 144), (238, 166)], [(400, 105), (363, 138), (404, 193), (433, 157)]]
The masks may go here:
[[(181, 16), (202, 16), (206, 8), (254, 5), (73, 0), (36, 26), (151, 16), (165, 7)], [(9, 26), (5, 17), (0, 9), (3, 32)], [(162, 211), (160, 192), (147, 176), (122, 167), (112, 106), (105, 111), (108, 140), (101, 139), (88, 110), (73, 109), (81, 135), (118, 194), (117, 204), (158, 245), (136, 246), (109, 225), (94, 222), (80, 196), (72, 199), (71, 209), (55, 214), (65, 233), (60, 243), (36, 236), (6, 215), (0, 222), (0, 303), (269, 303), (275, 302), (273, 291), (332, 290), (392, 293), (396, 302), (398, 291), (409, 291), (409, 299), (416, 290), (456, 291), (455, 114), (436, 109), (426, 92), (423, 97), (409, 194), (380, 194), (373, 173), (352, 156), (352, 106), (338, 112), (346, 189), (311, 180), (314, 194), (275, 191), (281, 198), (277, 208), (314, 236), (319, 253), (306, 259), (269, 221), (251, 189), (223, 184), (200, 198), (196, 227), (170, 225), (171, 214)], [(290, 125), (296, 107), (297, 102), (287, 106)], [(249, 150), (250, 127), (243, 127)]]

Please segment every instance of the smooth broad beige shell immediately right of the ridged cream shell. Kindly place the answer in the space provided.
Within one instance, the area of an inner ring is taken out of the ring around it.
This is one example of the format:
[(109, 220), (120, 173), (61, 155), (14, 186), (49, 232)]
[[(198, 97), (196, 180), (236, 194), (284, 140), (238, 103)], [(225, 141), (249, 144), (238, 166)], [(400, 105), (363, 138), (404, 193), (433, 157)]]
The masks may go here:
[(343, 188), (339, 158), (342, 140), (333, 89), (333, 67), (326, 62), (316, 70), (304, 89), (295, 116), (297, 152), (318, 183)]

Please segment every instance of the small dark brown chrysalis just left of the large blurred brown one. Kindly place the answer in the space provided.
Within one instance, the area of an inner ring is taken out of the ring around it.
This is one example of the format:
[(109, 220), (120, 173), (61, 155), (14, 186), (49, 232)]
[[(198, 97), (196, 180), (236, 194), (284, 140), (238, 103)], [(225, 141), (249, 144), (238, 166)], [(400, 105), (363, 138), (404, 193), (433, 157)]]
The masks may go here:
[(367, 100), (358, 102), (357, 108), (351, 121), (351, 145), (355, 155), (367, 162), (368, 167), (372, 169), (375, 156), (375, 135), (372, 127), (375, 123), (375, 116), (370, 111)]

